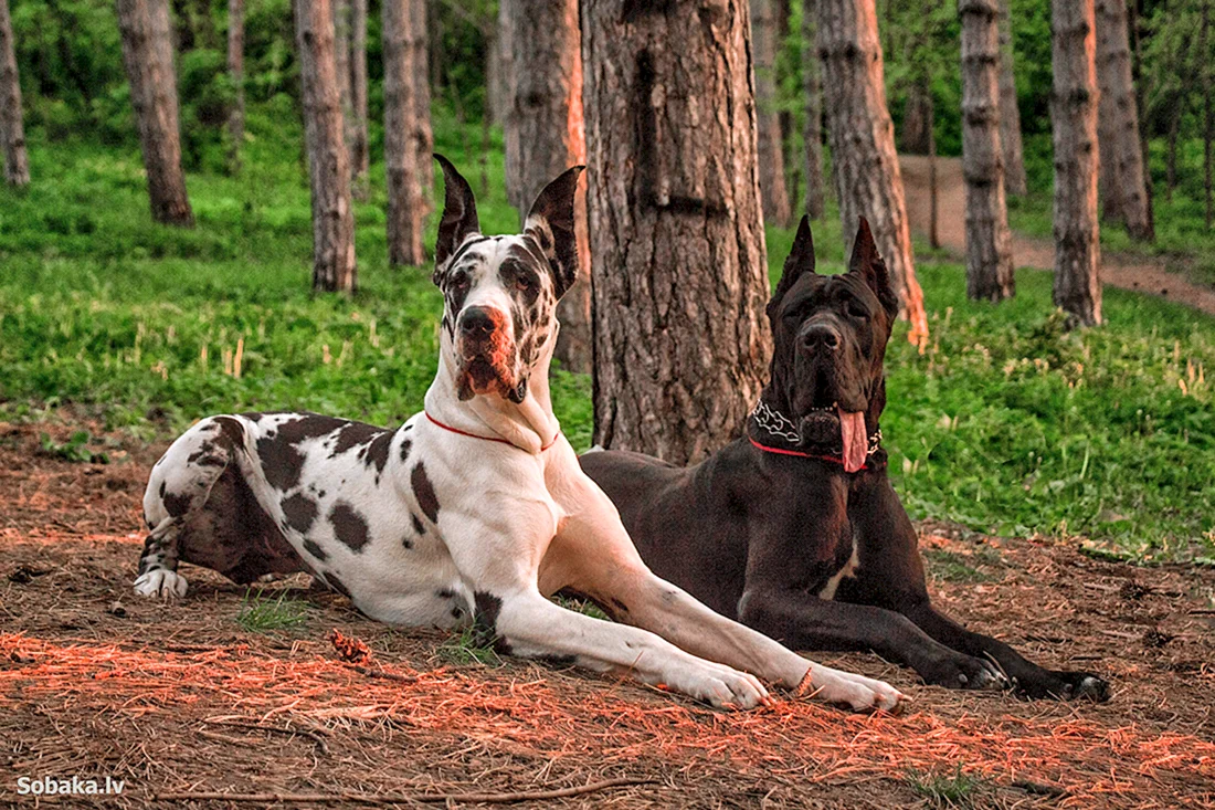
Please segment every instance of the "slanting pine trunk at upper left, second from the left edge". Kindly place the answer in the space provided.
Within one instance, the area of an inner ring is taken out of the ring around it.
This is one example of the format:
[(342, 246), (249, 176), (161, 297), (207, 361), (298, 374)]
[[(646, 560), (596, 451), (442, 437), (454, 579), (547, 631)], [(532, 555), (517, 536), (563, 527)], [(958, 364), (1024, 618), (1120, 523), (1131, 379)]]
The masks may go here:
[(186, 197), (186, 175), (181, 169), (169, 4), (166, 0), (118, 0), (117, 5), (123, 64), (140, 129), (152, 219), (169, 225), (193, 225), (194, 214)]

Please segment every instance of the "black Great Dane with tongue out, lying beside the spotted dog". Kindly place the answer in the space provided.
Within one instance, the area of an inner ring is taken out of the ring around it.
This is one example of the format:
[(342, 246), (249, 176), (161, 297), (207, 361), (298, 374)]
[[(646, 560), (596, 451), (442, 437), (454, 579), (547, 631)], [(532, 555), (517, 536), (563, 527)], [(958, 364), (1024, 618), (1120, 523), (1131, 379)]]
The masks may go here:
[(770, 379), (744, 435), (686, 469), (614, 451), (582, 467), (660, 576), (795, 649), (872, 649), (949, 687), (1106, 699), (1100, 677), (1042, 669), (929, 602), (881, 449), (897, 313), (869, 225), (848, 272), (825, 276), (803, 219), (768, 304)]

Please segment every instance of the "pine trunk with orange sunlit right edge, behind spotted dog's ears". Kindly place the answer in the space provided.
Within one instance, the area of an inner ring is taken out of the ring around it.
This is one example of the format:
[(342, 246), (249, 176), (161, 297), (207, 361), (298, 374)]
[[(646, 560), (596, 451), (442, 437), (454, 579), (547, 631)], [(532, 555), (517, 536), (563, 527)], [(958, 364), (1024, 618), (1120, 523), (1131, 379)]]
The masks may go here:
[[(582, 118), (582, 38), (578, 0), (501, 0), (502, 55), (513, 81), (505, 105), (507, 196), (526, 216), (536, 196), (571, 165), (587, 162)], [(558, 309), (556, 356), (566, 369), (590, 371), (590, 243), (587, 195), (575, 197), (578, 282)]]

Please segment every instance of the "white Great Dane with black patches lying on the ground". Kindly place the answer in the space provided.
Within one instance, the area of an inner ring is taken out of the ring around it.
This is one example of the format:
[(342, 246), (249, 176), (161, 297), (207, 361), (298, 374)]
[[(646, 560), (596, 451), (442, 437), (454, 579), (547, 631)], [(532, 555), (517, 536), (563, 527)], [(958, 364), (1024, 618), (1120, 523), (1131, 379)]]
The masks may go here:
[[(577, 272), (582, 167), (544, 189), (521, 235), (491, 237), (468, 182), (436, 158), (445, 309), (425, 410), (397, 431), (315, 414), (203, 420), (152, 471), (136, 592), (183, 596), (180, 562), (236, 583), (306, 570), (373, 619), (473, 621), (515, 654), (632, 673), (714, 705), (769, 703), (763, 679), (894, 708), (886, 684), (810, 663), (656, 578), (581, 472), (548, 370), (554, 309)], [(563, 589), (620, 623), (546, 598)]]

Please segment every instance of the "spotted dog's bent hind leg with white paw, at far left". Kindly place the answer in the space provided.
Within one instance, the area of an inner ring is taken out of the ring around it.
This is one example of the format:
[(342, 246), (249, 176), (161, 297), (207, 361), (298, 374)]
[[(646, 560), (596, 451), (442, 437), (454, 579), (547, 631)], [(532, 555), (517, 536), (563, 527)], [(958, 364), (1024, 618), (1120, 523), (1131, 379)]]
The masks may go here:
[(143, 493), (143, 519), (149, 534), (134, 584), (140, 596), (186, 595), (188, 584), (177, 573), (182, 534), (232, 461), (238, 440), (243, 446), (243, 428), (234, 418), (203, 420), (174, 441), (152, 468)]

